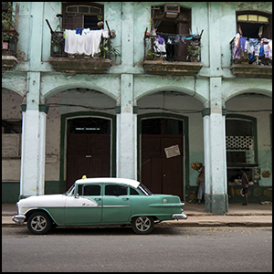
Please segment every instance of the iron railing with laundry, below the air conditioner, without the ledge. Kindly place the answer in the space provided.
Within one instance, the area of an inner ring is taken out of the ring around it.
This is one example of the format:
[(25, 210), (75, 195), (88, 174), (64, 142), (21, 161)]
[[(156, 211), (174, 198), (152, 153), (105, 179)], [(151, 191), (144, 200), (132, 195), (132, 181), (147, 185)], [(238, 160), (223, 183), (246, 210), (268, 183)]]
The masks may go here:
[[(203, 31), (202, 31), (203, 33)], [(143, 60), (201, 61), (201, 35), (177, 35), (145, 30)]]

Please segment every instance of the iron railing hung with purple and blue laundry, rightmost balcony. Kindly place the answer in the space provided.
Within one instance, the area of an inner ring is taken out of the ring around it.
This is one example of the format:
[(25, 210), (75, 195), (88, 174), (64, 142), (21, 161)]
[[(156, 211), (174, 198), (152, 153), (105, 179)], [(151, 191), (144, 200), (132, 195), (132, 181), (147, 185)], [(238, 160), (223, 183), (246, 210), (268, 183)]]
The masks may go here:
[(270, 58), (269, 52), (264, 51), (260, 48), (265, 46), (268, 47), (269, 43), (267, 41), (270, 41), (270, 39), (248, 38), (247, 41), (248, 43), (240, 43), (239, 45), (235, 45), (235, 37), (230, 41), (230, 65), (232, 66), (233, 64), (250, 64), (272, 66), (272, 55)]

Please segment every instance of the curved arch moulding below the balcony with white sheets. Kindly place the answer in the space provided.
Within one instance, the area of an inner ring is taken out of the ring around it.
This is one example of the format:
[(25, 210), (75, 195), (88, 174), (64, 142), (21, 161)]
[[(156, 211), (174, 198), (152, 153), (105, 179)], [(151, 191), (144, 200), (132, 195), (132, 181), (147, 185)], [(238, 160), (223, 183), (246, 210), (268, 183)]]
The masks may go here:
[(47, 90), (43, 94), (43, 96), (44, 96), (45, 100), (47, 100), (47, 99), (49, 99), (50, 97), (52, 97), (53, 95), (55, 95), (59, 92), (62, 92), (62, 91), (65, 91), (65, 90), (77, 89), (77, 88), (97, 90), (97, 91), (100, 91), (101, 93), (111, 97), (113, 100), (118, 99), (117, 95), (114, 95), (113, 93), (111, 93), (111, 91), (103, 89), (103, 88), (101, 88), (99, 86), (96, 86), (94, 84), (89, 84), (87, 82), (82, 82), (82, 83), (75, 82), (75, 83), (69, 83), (69, 84), (62, 84), (62, 85), (59, 85), (56, 88), (53, 88), (51, 90)]

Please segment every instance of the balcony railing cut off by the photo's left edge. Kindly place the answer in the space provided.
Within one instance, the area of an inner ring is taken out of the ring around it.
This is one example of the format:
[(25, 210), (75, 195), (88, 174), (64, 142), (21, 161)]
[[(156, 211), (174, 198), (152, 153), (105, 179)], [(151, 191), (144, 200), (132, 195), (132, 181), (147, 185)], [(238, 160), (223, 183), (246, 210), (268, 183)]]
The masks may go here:
[(2, 55), (16, 56), (18, 36), (16, 29), (2, 29)]

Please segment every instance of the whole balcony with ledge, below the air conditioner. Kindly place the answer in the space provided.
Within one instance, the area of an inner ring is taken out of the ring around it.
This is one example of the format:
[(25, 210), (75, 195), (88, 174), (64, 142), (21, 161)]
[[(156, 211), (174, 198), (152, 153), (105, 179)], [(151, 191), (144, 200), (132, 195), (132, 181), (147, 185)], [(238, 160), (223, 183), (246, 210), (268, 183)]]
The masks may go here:
[(146, 73), (161, 76), (195, 76), (203, 65), (201, 35), (144, 33), (143, 68)]

